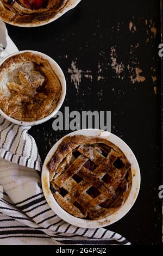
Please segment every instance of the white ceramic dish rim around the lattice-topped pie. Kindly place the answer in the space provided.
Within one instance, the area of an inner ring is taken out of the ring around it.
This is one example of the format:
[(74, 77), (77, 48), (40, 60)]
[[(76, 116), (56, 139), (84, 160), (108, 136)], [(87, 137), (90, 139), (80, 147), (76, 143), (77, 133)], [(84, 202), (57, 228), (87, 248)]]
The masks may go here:
[[(47, 163), (51, 159), (55, 150), (57, 150), (58, 145), (61, 143), (62, 139), (64, 139), (67, 136), (73, 136), (73, 135), (99, 136), (99, 137), (108, 139), (108, 141), (114, 143), (118, 148), (122, 150), (124, 155), (126, 155), (128, 161), (131, 163), (132, 186), (126, 202), (114, 214), (106, 218), (103, 218), (101, 220), (83, 220), (81, 218), (77, 218), (68, 214), (68, 212), (66, 212), (64, 209), (60, 207), (60, 205), (54, 199), (51, 190), (49, 189), (50, 184), (49, 184), (49, 171), (47, 169)], [(117, 222), (124, 215), (126, 215), (127, 212), (131, 209), (131, 207), (135, 203), (135, 200), (138, 196), (139, 189), (140, 189), (140, 169), (139, 169), (139, 164), (137, 163), (136, 157), (134, 156), (133, 152), (128, 147), (128, 145), (122, 141), (122, 139), (118, 138), (116, 135), (107, 131), (102, 131), (97, 129), (79, 130), (79, 131), (71, 132), (65, 137), (61, 138), (57, 143), (55, 143), (53, 148), (49, 151), (46, 157), (46, 160), (43, 164), (42, 188), (43, 188), (43, 193), (45, 195), (48, 205), (55, 212), (55, 214), (57, 214), (60, 218), (62, 218), (62, 220), (81, 228), (99, 228), (99, 227), (105, 227), (107, 225)]]

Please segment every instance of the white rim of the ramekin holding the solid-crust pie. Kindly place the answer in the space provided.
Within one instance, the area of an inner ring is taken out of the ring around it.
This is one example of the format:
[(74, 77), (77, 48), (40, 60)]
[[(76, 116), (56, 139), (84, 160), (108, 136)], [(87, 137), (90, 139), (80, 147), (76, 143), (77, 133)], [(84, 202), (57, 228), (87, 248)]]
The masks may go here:
[(28, 125), (38, 125), (38, 124), (42, 124), (45, 123), (46, 121), (48, 121), (49, 119), (51, 119), (52, 117), (54, 117), (54, 115), (59, 111), (59, 109), (62, 106), (62, 103), (64, 102), (65, 99), (65, 95), (66, 95), (66, 80), (65, 80), (65, 76), (63, 71), (61, 70), (60, 66), (49, 56), (47, 56), (44, 53), (41, 52), (37, 52), (37, 51), (20, 51), (20, 52), (15, 52), (10, 54), (9, 56), (5, 57), (3, 60), (1, 60), (0, 62), (0, 66), (2, 65), (3, 62), (5, 62), (5, 60), (7, 60), (8, 58), (15, 56), (17, 54), (23, 53), (23, 52), (32, 52), (34, 54), (39, 54), (42, 58), (47, 59), (48, 62), (51, 64), (55, 74), (58, 76), (60, 82), (61, 82), (61, 87), (62, 87), (62, 92), (61, 92), (61, 96), (58, 102), (57, 107), (53, 110), (53, 112), (49, 115), (47, 115), (47, 117), (42, 118), (40, 120), (36, 120), (36, 121), (32, 121), (32, 122), (27, 122), (27, 121), (20, 121), (20, 120), (16, 120), (14, 118), (9, 117), (7, 114), (5, 114), (2, 109), (0, 108), (0, 114), (7, 120), (9, 120), (11, 123), (17, 124), (17, 125), (23, 125), (23, 126), (28, 126)]

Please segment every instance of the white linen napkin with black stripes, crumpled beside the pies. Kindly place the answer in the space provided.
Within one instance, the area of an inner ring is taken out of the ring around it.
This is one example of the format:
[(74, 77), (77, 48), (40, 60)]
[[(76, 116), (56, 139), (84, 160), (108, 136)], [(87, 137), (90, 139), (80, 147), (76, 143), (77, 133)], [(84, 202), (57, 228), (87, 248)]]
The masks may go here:
[(0, 244), (130, 245), (104, 228), (74, 227), (49, 208), (41, 188), (41, 159), (29, 129), (0, 116)]

